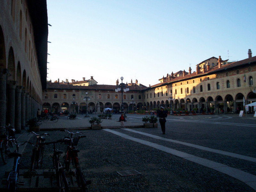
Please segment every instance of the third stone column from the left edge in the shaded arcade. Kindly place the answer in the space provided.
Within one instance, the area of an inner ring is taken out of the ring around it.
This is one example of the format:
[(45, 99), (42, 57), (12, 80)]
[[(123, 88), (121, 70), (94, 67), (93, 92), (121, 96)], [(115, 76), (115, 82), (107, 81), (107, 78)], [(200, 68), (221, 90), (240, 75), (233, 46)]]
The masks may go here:
[(21, 91), (22, 91), (22, 86), (16, 86), (15, 90), (15, 124), (14, 128), (16, 132), (21, 131)]

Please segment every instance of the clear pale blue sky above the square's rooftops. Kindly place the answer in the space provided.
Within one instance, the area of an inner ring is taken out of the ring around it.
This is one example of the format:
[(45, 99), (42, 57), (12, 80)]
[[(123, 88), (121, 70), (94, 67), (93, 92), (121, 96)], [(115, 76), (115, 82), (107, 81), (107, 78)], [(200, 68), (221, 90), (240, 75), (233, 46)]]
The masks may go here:
[(123, 76), (148, 86), (213, 56), (256, 55), (255, 0), (47, 0), (47, 8), (52, 81), (115, 85)]

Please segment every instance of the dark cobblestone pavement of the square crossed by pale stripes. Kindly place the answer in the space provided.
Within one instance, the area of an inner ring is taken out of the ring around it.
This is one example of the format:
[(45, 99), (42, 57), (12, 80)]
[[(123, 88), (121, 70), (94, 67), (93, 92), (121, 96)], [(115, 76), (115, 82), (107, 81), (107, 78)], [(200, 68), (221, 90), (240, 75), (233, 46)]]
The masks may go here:
[[(142, 117), (128, 115), (127, 119), (129, 124), (141, 124)], [(256, 180), (248, 181), (256, 177), (255, 119), (235, 114), (168, 116), (165, 135), (161, 134), (160, 125), (158, 128), (83, 130), (86, 138), (77, 146), (79, 162), (86, 178), (92, 180), (89, 191), (93, 192), (255, 191)], [(111, 124), (111, 120), (108, 123)], [(49, 141), (67, 136), (60, 131), (48, 133)], [(58, 148), (65, 151), (61, 144)], [(42, 169), (52, 166), (51, 154), (51, 146), (46, 147)], [(230, 167), (232, 172), (225, 174), (222, 167), (217, 171), (215, 167), (195, 163), (179, 154)], [(31, 146), (27, 145), (21, 157), (21, 169), (28, 169), (30, 157)], [(125, 170), (141, 174), (120, 176), (117, 173)], [(235, 173), (241, 177), (237, 179)]]

